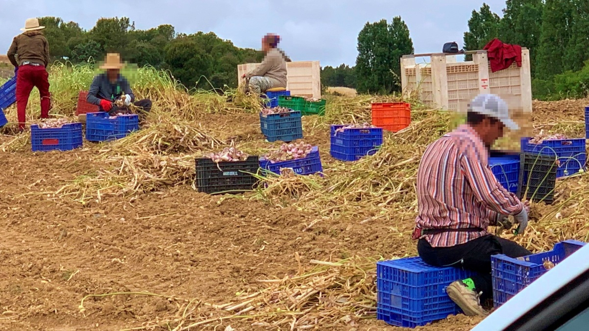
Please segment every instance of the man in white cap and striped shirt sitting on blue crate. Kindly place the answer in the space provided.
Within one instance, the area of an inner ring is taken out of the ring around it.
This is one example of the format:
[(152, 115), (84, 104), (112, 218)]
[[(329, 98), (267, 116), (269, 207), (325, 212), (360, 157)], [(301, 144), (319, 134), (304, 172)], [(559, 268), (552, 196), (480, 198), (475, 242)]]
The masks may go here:
[(528, 224), (528, 203), (505, 190), (488, 165), (489, 147), (505, 128), (519, 130), (505, 101), (493, 94), (478, 95), (468, 105), (466, 124), (429, 145), (419, 164), (413, 239), (419, 240), (425, 263), (474, 272), (446, 289), (468, 316), (488, 314), (481, 302), (492, 299), (492, 255), (531, 254), (487, 230), (508, 215), (514, 216), (518, 233)]

